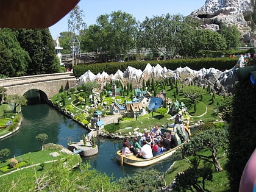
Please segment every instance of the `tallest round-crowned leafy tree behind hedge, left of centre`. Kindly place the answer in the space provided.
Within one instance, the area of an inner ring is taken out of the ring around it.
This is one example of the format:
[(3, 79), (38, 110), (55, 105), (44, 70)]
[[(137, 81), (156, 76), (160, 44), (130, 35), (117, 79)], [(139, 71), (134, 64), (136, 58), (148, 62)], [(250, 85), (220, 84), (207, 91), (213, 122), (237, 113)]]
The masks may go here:
[[(115, 55), (116, 59), (120, 59), (121, 54), (135, 48), (137, 22), (129, 13), (117, 11), (110, 15), (100, 15), (96, 23), (99, 27), (92, 26), (87, 32), (93, 32), (99, 37), (91, 41), (98, 45), (100, 54)], [(88, 35), (91, 37), (94, 34)]]

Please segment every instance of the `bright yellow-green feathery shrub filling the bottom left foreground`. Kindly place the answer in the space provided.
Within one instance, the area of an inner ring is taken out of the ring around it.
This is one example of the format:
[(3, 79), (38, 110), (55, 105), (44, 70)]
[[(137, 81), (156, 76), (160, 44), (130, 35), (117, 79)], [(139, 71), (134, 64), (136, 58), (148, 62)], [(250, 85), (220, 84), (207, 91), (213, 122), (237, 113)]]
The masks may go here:
[[(121, 190), (121, 186), (113, 182), (113, 177), (91, 169), (89, 163), (79, 166), (79, 171), (73, 169), (80, 163), (80, 159), (74, 162), (71, 156), (60, 159), (43, 169), (39, 174), (35, 169), (34, 177), (27, 179), (27, 174), (21, 172), (15, 185), (1, 183), (1, 191), (113, 191)], [(65, 165), (65, 166), (63, 166)]]

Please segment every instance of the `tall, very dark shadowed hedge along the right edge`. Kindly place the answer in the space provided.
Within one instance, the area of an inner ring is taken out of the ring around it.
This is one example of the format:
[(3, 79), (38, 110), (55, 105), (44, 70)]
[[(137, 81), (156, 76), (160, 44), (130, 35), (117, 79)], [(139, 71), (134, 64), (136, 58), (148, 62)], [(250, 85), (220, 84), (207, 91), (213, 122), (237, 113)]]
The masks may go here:
[(248, 82), (239, 82), (233, 95), (232, 123), (229, 126), (229, 171), (232, 191), (239, 188), (247, 160), (255, 150), (256, 93)]

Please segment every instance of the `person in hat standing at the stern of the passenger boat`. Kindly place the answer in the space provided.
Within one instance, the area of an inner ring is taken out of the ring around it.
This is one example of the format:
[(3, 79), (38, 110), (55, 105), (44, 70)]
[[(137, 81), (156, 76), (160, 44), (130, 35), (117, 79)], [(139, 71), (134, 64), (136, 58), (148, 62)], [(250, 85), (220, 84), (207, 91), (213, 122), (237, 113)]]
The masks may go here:
[(177, 132), (182, 143), (185, 141), (186, 135), (184, 133), (184, 118), (182, 111), (179, 111), (176, 115), (172, 116), (170, 120), (174, 119), (174, 132)]

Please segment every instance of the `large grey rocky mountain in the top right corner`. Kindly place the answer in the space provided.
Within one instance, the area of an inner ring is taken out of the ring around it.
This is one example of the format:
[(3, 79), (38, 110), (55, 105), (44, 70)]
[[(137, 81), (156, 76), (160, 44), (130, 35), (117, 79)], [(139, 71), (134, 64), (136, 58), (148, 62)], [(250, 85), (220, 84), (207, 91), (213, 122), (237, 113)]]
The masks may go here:
[[(235, 24), (249, 42), (256, 37), (251, 15), (254, 13), (254, 0), (206, 0), (205, 4), (190, 14), (202, 21), (204, 29), (219, 30), (222, 24)], [(250, 19), (248, 19), (250, 18)]]

